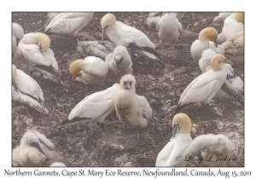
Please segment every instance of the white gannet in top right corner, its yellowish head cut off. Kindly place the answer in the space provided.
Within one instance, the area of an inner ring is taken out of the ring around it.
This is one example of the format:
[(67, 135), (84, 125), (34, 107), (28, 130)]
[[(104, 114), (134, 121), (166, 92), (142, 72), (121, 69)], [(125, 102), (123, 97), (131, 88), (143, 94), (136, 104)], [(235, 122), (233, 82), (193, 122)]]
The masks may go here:
[(222, 32), (218, 35), (218, 44), (224, 43), (237, 32), (243, 32), (244, 13), (233, 13), (224, 20)]

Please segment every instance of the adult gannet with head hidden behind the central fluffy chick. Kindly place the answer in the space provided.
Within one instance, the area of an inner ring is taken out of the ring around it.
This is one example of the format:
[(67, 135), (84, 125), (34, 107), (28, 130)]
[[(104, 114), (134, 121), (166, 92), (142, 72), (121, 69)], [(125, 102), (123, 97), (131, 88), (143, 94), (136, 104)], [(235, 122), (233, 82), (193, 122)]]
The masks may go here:
[(102, 124), (102, 129), (104, 130), (103, 123), (105, 118), (114, 111), (114, 96), (118, 90), (119, 84), (113, 84), (107, 90), (86, 96), (84, 100), (73, 108), (68, 118), (58, 127), (84, 122), (97, 122)]

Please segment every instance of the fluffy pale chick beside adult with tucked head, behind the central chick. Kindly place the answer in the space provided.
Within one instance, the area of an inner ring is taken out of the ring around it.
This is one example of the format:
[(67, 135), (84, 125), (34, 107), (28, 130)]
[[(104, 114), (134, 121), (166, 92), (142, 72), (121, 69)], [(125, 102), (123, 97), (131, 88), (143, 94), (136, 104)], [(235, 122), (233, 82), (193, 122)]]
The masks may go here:
[(124, 46), (117, 46), (113, 53), (106, 56), (105, 61), (112, 63), (113, 70), (108, 70), (106, 82), (117, 83), (125, 74), (132, 73), (132, 61), (127, 49)]

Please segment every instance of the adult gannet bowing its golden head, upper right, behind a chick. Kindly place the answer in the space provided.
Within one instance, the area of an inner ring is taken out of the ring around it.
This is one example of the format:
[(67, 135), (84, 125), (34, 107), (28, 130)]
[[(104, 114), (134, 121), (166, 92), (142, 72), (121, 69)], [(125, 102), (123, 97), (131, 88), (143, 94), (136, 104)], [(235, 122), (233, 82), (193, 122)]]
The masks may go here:
[[(198, 64), (198, 61), (201, 59), (201, 54), (205, 49), (211, 48), (212, 50), (215, 51), (218, 48), (218, 44), (216, 42), (217, 38), (218, 38), (218, 32), (215, 28), (207, 27), (201, 30), (201, 32), (199, 33), (198, 39), (195, 40), (195, 42), (192, 43), (190, 47), (191, 55), (194, 61), (196, 62), (196, 64)], [(210, 41), (212, 41), (215, 44), (216, 49), (212, 45), (213, 43)], [(212, 44), (210, 45), (209, 43), (212, 43)], [(215, 52), (220, 53), (219, 50)], [(221, 54), (224, 55), (224, 49), (222, 50)]]

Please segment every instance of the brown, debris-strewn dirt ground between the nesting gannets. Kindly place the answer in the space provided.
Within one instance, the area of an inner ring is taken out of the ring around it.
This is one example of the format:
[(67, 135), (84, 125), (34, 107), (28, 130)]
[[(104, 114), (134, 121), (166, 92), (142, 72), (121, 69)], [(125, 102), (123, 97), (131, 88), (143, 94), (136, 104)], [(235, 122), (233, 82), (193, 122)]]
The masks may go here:
[[(94, 18), (82, 32), (79, 40), (101, 40), (100, 21), (105, 13), (95, 13)], [(116, 19), (129, 26), (134, 26), (144, 32), (157, 46), (158, 34), (155, 29), (149, 30), (146, 24), (148, 13), (113, 13)], [(12, 14), (12, 21), (20, 24), (25, 33), (44, 32), (47, 13), (18, 13)], [(164, 69), (144, 55), (131, 55), (133, 75), (137, 79), (138, 95), (144, 95), (153, 109), (153, 122), (143, 129), (140, 140), (131, 138), (134, 131), (124, 135), (115, 135), (124, 130), (115, 113), (106, 119), (105, 130), (96, 123), (76, 124), (55, 129), (57, 124), (67, 118), (73, 107), (84, 99), (84, 84), (75, 83), (69, 78), (69, 65), (83, 58), (76, 51), (76, 40), (60, 40), (50, 37), (51, 49), (55, 53), (61, 71), (61, 80), (67, 88), (59, 86), (47, 79), (32, 77), (38, 81), (44, 91), (44, 105), (50, 109), (49, 115), (38, 113), (31, 107), (13, 102), (12, 105), (12, 148), (20, 145), (22, 135), (29, 129), (43, 133), (54, 144), (55, 148), (45, 160), (44, 166), (55, 161), (61, 161), (67, 166), (154, 166), (160, 150), (172, 136), (172, 118), (166, 113), (177, 105), (180, 95), (187, 85), (195, 78), (190, 75), (198, 64), (190, 55), (190, 46), (198, 38), (198, 33), (207, 26), (215, 27), (221, 32), (223, 24), (213, 24), (212, 20), (218, 12), (195, 13), (195, 24), (191, 25), (190, 14), (186, 13), (181, 20), (183, 36), (177, 41), (175, 49), (157, 52), (166, 60)], [(197, 24), (197, 25), (196, 25)], [(194, 26), (196, 25), (196, 26)], [(107, 36), (105, 37), (107, 40)], [(168, 45), (168, 43), (166, 43)], [(22, 70), (29, 74), (26, 63)], [(244, 80), (243, 69), (237, 71)], [(102, 85), (101, 90), (108, 88)], [(97, 91), (96, 86), (89, 86), (90, 94)], [(191, 136), (203, 134), (224, 134), (233, 145), (235, 161), (226, 162), (225, 166), (244, 166), (244, 107), (230, 102), (222, 102), (224, 116), (215, 115), (205, 107), (196, 108), (189, 114), (192, 122)], [(196, 166), (189, 162), (188, 166)]]

